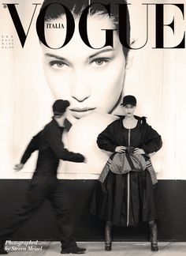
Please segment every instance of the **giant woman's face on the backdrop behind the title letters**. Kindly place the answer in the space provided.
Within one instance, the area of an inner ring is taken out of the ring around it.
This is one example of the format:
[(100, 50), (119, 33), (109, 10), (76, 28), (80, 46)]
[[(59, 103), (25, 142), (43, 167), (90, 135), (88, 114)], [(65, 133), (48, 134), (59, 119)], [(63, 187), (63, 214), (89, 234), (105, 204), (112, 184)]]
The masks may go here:
[[(113, 47), (92, 49), (81, 40), (78, 23), (70, 42), (65, 41), (65, 18), (48, 23), (63, 24), (64, 28), (45, 28), (50, 47), (45, 47), (43, 66), (47, 83), (55, 99), (69, 100), (71, 119), (80, 119), (92, 112), (110, 113), (121, 96), (125, 80), (125, 55), (116, 32), (113, 32)], [(105, 44), (105, 31), (114, 28), (109, 17), (88, 17), (87, 31), (92, 47)]]

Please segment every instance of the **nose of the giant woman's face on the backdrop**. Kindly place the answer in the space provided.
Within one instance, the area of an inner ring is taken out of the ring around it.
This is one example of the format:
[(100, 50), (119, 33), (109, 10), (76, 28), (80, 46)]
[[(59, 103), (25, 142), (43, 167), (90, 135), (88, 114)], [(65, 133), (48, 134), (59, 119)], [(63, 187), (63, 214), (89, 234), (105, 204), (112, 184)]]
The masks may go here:
[(86, 72), (75, 72), (71, 85), (71, 96), (79, 102), (87, 100), (91, 96)]

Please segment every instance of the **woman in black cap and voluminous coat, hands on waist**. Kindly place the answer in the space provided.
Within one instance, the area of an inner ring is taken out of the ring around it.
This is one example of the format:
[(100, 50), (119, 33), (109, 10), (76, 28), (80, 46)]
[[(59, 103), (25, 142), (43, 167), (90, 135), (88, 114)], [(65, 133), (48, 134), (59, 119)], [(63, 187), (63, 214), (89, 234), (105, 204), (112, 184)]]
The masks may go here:
[(113, 152), (95, 188), (91, 213), (106, 220), (106, 250), (111, 250), (111, 227), (148, 222), (151, 250), (158, 250), (158, 217), (154, 189), (157, 179), (148, 154), (162, 147), (161, 136), (144, 117), (134, 115), (136, 98), (123, 98), (125, 115), (99, 134), (100, 149)]

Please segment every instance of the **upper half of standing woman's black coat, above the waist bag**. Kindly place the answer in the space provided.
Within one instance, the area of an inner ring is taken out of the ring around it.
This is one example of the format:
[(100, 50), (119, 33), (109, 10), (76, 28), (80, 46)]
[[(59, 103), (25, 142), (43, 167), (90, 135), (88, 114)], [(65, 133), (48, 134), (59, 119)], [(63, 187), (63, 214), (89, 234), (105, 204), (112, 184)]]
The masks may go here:
[[(138, 127), (136, 127), (138, 129), (130, 129), (131, 146), (143, 149), (147, 154), (157, 152), (162, 147), (161, 136), (147, 124), (146, 118), (139, 118), (138, 116), (135, 117), (138, 119)], [(97, 143), (100, 149), (115, 152), (116, 147), (119, 145), (129, 146), (128, 132), (124, 132), (125, 127), (122, 123), (123, 119), (125, 119), (125, 116), (110, 123), (110, 125), (107, 126), (101, 134), (99, 134)]]

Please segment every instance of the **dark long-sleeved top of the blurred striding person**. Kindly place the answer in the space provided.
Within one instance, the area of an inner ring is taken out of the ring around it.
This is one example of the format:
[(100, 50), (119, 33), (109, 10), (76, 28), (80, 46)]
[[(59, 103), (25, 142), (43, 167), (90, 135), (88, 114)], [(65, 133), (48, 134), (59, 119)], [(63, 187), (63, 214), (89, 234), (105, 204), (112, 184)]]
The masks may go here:
[(53, 118), (43, 130), (36, 134), (30, 141), (22, 156), (20, 163), (25, 164), (32, 152), (39, 150), (35, 174), (57, 175), (59, 160), (71, 162), (84, 162), (84, 156), (80, 153), (70, 152), (64, 148), (61, 136), (64, 127), (58, 126)]

